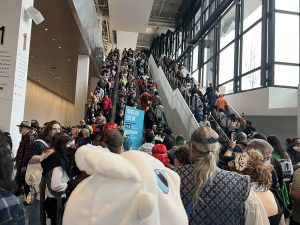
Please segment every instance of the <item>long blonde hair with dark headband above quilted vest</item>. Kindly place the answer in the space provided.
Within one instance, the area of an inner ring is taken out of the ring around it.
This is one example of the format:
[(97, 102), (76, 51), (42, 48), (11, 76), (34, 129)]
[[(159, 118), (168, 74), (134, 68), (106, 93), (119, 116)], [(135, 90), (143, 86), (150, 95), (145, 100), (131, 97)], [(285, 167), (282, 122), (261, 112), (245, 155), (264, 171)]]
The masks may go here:
[(192, 194), (194, 206), (201, 201), (200, 192), (206, 180), (212, 177), (216, 170), (220, 149), (218, 138), (218, 134), (210, 127), (199, 127), (192, 134), (190, 143), (199, 156), (192, 174), (195, 183)]

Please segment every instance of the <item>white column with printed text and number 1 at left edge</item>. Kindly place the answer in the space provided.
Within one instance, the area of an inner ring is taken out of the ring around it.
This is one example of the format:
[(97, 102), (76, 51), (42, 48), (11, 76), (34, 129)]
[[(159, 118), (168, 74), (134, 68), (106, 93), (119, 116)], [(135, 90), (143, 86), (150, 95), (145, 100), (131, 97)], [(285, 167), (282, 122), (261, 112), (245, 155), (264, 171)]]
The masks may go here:
[(33, 0), (1, 0), (0, 7), (0, 129), (9, 131), (15, 153), (24, 117), (32, 19), (25, 10)]

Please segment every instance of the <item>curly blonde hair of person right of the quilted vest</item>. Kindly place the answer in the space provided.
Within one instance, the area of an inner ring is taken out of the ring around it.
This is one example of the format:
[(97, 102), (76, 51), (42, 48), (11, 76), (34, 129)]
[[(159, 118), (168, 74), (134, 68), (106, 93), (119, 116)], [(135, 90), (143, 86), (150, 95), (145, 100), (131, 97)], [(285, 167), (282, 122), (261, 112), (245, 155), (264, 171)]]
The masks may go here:
[(246, 168), (238, 171), (233, 160), (228, 163), (230, 170), (249, 175), (251, 182), (258, 182), (263, 189), (269, 190), (272, 185), (273, 166), (264, 162), (264, 157), (259, 150), (249, 149), (246, 153), (249, 155)]

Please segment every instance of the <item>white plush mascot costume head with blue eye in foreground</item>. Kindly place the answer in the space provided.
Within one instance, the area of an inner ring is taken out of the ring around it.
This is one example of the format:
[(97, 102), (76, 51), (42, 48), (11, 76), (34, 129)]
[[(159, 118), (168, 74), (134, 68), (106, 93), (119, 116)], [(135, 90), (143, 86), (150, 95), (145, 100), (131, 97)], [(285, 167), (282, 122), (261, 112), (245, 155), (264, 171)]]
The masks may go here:
[(140, 151), (117, 155), (80, 147), (77, 166), (90, 177), (72, 192), (64, 225), (186, 225), (180, 178)]

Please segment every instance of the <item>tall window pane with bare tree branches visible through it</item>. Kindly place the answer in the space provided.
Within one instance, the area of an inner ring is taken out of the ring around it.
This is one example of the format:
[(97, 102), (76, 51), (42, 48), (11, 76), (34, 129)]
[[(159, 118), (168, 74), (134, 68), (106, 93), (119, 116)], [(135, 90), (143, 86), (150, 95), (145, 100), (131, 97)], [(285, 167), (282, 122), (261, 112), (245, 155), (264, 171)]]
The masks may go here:
[(261, 23), (243, 35), (242, 73), (261, 65)]

